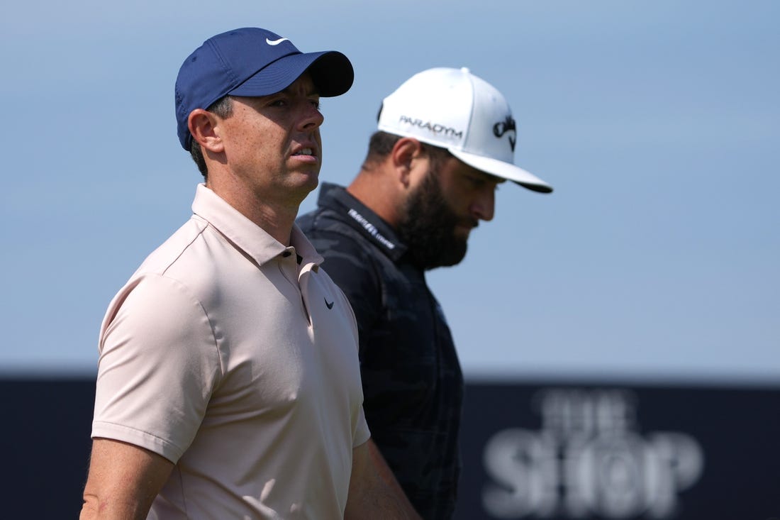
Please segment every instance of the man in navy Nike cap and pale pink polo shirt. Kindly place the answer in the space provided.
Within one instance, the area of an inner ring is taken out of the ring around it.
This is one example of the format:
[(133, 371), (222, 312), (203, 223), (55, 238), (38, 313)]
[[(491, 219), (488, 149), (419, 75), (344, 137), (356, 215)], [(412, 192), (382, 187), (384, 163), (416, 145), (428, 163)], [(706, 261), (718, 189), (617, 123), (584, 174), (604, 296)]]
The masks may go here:
[(244, 28), (176, 80), (193, 216), (101, 326), (81, 518), (415, 518), (379, 477), (342, 291), (294, 224), (321, 166), (339, 52)]

